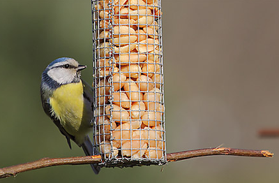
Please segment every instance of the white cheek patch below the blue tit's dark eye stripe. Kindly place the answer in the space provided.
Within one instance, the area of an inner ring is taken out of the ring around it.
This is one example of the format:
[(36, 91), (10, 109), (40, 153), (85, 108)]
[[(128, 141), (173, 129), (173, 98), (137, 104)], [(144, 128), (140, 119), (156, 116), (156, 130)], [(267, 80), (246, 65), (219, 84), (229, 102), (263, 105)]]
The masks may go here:
[(52, 80), (63, 85), (73, 81), (75, 72), (65, 68), (52, 68), (50, 69), (50, 71), (47, 72), (47, 75), (49, 75)]

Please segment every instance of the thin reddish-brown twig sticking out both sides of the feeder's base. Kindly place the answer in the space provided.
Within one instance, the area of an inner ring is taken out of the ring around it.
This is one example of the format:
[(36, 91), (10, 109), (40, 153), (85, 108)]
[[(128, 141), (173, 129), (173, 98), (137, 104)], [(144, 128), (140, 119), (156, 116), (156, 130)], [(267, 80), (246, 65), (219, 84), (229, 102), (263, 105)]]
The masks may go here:
[[(228, 147), (216, 147), (209, 149), (196, 149), (186, 152), (174, 152), (167, 154), (167, 161), (181, 161), (183, 159), (190, 159), (199, 156), (211, 155), (232, 155), (232, 156), (252, 156), (252, 157), (272, 157), (273, 154), (269, 151), (261, 150), (246, 150), (246, 149), (232, 149)], [(36, 170), (38, 168), (45, 168), (49, 166), (61, 165), (80, 165), (100, 163), (101, 156), (80, 156), (70, 158), (50, 159), (44, 158), (38, 161), (24, 163), (16, 166), (9, 166), (0, 169), (0, 178), (15, 176), (18, 173), (26, 172), (28, 170)]]

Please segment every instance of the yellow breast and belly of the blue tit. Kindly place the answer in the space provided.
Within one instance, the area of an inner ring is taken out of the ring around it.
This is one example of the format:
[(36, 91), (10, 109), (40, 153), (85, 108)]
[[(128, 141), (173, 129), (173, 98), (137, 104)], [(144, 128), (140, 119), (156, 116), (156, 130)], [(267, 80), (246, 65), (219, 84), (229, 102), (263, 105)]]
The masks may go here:
[(75, 136), (82, 123), (84, 108), (82, 81), (57, 88), (50, 98), (52, 112), (64, 129)]

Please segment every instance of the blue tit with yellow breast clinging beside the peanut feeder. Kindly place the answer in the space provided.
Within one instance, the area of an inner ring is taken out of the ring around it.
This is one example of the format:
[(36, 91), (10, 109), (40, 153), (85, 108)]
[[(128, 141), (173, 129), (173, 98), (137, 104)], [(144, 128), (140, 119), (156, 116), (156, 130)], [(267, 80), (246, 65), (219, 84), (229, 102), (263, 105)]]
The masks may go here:
[[(67, 57), (52, 61), (43, 71), (40, 96), (45, 113), (66, 137), (70, 149), (73, 140), (86, 156), (92, 156), (93, 145), (87, 134), (93, 127), (93, 89), (80, 78), (84, 68)], [(97, 164), (91, 168), (96, 174), (100, 171)]]

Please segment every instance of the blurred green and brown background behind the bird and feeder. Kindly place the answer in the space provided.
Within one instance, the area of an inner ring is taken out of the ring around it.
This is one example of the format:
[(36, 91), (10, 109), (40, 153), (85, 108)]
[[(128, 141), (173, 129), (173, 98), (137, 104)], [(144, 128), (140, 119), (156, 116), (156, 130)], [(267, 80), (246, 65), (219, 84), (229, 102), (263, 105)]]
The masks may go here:
[[(272, 159), (213, 156), (164, 167), (59, 166), (1, 182), (277, 182), (279, 1), (162, 0), (167, 152), (205, 147), (269, 149)], [(40, 74), (58, 57), (89, 66), (89, 0), (0, 0), (0, 168), (82, 156), (44, 114)], [(136, 177), (136, 178), (135, 178)]]

